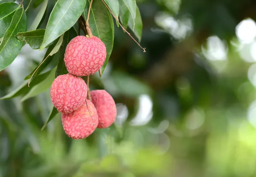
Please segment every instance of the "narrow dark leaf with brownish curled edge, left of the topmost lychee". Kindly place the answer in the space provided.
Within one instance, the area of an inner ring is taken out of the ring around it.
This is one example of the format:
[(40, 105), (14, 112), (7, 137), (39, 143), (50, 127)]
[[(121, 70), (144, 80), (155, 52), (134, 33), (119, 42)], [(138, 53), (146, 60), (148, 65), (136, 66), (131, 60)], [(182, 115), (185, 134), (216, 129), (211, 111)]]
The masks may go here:
[[(30, 73), (29, 75), (26, 76), (25, 80), (29, 79), (31, 77), (32, 77), (31, 78), (31, 80), (32, 80), (35, 76), (37, 76), (44, 70), (44, 68), (52, 61), (54, 54), (56, 52), (58, 52), (58, 50), (60, 49), (62, 42), (63, 42), (63, 35), (61, 35), (61, 37), (58, 39), (58, 41), (56, 40), (53, 45), (49, 46), (49, 48), (46, 51), (46, 54), (44, 55), (43, 61), (38, 65), (38, 67), (36, 67), (32, 71), (32, 73)], [(33, 73), (34, 73), (34, 75), (33, 75)]]

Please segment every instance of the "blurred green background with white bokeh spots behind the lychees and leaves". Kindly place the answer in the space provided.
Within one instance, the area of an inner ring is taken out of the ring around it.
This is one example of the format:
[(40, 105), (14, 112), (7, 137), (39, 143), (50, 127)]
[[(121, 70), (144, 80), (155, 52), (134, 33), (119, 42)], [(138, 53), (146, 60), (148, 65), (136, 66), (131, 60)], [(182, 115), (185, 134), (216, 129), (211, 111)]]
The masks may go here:
[[(72, 140), (60, 114), (41, 131), (49, 87), (0, 101), (0, 177), (256, 176), (256, 1), (137, 4), (147, 52), (115, 26), (105, 73), (90, 77), (90, 90), (113, 96), (116, 122)], [(45, 52), (25, 45), (0, 72), (0, 96)]]

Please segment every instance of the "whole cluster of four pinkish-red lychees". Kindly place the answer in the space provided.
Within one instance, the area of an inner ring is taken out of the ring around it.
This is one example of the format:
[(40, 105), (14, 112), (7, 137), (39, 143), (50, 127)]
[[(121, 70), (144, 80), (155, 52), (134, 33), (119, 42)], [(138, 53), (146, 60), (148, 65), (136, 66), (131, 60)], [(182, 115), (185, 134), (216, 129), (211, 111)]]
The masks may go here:
[(69, 73), (55, 78), (50, 95), (52, 104), (61, 112), (64, 131), (70, 138), (86, 138), (96, 128), (108, 128), (116, 119), (112, 96), (105, 90), (89, 93), (81, 78), (96, 73), (106, 55), (105, 44), (95, 36), (76, 36), (66, 47), (64, 62)]

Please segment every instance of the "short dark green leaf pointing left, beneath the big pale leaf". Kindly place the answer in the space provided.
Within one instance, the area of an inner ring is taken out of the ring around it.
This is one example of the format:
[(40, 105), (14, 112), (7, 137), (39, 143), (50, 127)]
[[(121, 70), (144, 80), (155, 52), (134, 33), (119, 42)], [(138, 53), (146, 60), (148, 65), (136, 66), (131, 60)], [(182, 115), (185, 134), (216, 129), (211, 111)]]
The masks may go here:
[(20, 41), (25, 41), (32, 49), (39, 49), (44, 39), (45, 29), (36, 29), (29, 32), (19, 32), (15, 35)]

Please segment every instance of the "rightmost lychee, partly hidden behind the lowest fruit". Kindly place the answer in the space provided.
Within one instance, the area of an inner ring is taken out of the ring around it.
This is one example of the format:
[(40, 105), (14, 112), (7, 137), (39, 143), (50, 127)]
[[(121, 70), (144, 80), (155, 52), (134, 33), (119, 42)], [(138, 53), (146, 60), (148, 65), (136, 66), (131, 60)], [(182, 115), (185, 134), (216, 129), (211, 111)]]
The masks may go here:
[(116, 119), (116, 104), (106, 90), (90, 91), (92, 102), (99, 116), (98, 128), (108, 128)]

